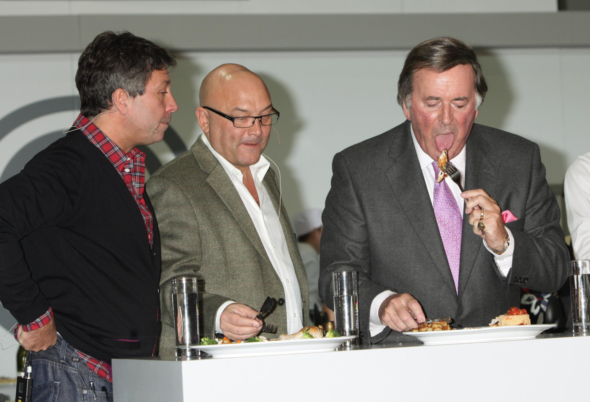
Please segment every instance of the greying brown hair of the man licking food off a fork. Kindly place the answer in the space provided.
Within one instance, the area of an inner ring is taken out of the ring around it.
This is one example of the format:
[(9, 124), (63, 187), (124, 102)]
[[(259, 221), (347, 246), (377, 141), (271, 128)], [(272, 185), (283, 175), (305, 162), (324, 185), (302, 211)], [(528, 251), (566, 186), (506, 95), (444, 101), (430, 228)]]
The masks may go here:
[(399, 106), (405, 103), (408, 109), (412, 109), (414, 74), (418, 70), (432, 70), (442, 73), (461, 64), (468, 64), (473, 68), (476, 87), (476, 110), (479, 109), (487, 92), (483, 71), (473, 48), (464, 41), (451, 37), (433, 38), (424, 41), (408, 53), (404, 68), (399, 74)]

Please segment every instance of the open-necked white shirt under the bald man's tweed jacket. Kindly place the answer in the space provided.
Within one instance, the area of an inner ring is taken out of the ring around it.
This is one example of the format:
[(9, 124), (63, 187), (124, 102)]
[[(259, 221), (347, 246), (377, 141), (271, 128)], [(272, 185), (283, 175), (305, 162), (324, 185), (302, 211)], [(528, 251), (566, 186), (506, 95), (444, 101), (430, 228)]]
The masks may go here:
[[(277, 211), (274, 209), (273, 201), (262, 183), (264, 175), (266, 175), (268, 168), (270, 168), (270, 163), (263, 155), (260, 155), (260, 160), (254, 165), (250, 165), (250, 172), (252, 172), (254, 185), (258, 192), (258, 200), (260, 201), (260, 207), (258, 207), (256, 200), (254, 200), (254, 197), (252, 197), (252, 194), (250, 194), (250, 191), (248, 191), (244, 185), (244, 175), (240, 169), (236, 168), (228, 162), (227, 159), (219, 155), (219, 153), (213, 149), (204, 134), (201, 135), (201, 140), (207, 145), (207, 148), (209, 148), (213, 155), (215, 155), (215, 158), (217, 158), (221, 166), (223, 166), (225, 172), (227, 172), (230, 177), (231, 182), (234, 184), (235, 189), (237, 189), (238, 194), (240, 194), (242, 202), (244, 202), (244, 206), (254, 223), (254, 227), (262, 241), (268, 259), (270, 259), (275, 272), (283, 284), (285, 306), (287, 308), (287, 331), (289, 334), (294, 334), (303, 328), (303, 302), (301, 300), (299, 280), (297, 280), (295, 274), (293, 261), (289, 254), (289, 247), (287, 247), (287, 241), (285, 240), (283, 233), (283, 227), (281, 227)], [(285, 212), (283, 211), (283, 213)], [(221, 328), (219, 328), (219, 318), (224, 309), (231, 303), (233, 302), (225, 302), (217, 310), (217, 315), (215, 316), (215, 331), (219, 333), (222, 332)], [(250, 307), (258, 309), (260, 306)]]

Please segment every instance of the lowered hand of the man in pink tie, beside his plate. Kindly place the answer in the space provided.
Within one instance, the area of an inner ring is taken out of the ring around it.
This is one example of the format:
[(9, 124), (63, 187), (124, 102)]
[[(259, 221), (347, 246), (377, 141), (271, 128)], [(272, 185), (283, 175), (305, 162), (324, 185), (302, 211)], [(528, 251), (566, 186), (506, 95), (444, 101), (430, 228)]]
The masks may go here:
[(394, 331), (411, 331), (418, 328), (418, 322), (426, 321), (418, 300), (409, 293), (395, 293), (383, 300), (379, 306), (381, 323)]

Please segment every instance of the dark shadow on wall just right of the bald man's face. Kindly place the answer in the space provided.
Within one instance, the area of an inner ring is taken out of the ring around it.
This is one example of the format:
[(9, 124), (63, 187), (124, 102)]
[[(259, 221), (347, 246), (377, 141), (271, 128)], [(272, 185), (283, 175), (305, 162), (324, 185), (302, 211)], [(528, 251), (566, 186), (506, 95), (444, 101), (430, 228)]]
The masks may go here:
[[(305, 123), (299, 115), (289, 88), (268, 74), (260, 74), (260, 77), (266, 83), (268, 91), (270, 91), (273, 106), (281, 113), (280, 119), (273, 126), (276, 131), (271, 129), (270, 141), (264, 154), (272, 158), (280, 168), (283, 204), (292, 215), (295, 211), (303, 210), (303, 201), (301, 200), (299, 184), (293, 171), (286, 164), (286, 160), (293, 149), (297, 134), (304, 128)], [(279, 135), (277, 135), (277, 131)], [(280, 143), (278, 142), (278, 136), (280, 136)], [(301, 163), (308, 162), (301, 161)], [(276, 166), (272, 162), (271, 166), (276, 170)], [(291, 215), (290, 218), (292, 218)]]

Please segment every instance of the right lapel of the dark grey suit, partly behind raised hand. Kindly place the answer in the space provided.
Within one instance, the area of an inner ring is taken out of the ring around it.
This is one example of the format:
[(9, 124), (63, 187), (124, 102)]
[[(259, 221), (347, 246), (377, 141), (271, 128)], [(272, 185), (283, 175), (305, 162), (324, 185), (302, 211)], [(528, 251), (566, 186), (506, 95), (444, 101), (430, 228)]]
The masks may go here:
[[(496, 198), (496, 183), (499, 166), (489, 156), (491, 147), (481, 135), (478, 125), (474, 125), (467, 140), (465, 163), (465, 189), (484, 189), (491, 198)], [(463, 215), (463, 231), (461, 233), (461, 262), (459, 269), (459, 297), (463, 295), (473, 270), (477, 254), (481, 248), (488, 253), (481, 238), (473, 233), (468, 215)]]

